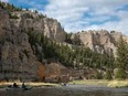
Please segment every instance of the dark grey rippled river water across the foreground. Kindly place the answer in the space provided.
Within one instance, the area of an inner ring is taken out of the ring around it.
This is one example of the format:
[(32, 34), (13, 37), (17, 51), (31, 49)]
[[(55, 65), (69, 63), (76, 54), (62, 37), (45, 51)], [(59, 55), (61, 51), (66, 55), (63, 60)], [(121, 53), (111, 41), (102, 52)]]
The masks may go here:
[(0, 96), (128, 96), (128, 88), (70, 85), (63, 87), (39, 87), (30, 90), (0, 89)]

